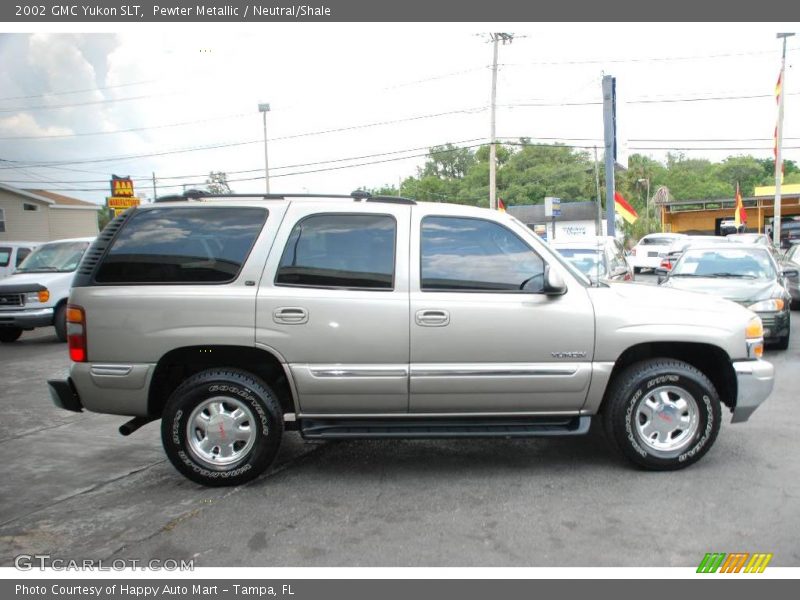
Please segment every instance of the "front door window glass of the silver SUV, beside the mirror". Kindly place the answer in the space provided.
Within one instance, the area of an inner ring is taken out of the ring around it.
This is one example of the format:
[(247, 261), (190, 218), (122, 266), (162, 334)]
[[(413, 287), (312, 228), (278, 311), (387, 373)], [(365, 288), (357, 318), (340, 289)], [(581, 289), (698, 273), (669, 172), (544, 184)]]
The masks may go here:
[(421, 270), (424, 290), (540, 291), (544, 261), (492, 221), (426, 217)]

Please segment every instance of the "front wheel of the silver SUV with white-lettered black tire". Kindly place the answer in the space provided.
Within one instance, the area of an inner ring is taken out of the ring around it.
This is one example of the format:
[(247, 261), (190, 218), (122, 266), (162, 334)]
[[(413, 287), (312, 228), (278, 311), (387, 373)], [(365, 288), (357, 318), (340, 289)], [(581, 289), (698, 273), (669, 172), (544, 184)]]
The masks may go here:
[[(662, 398), (661, 392), (667, 394), (668, 402), (659, 405), (665, 408), (649, 409), (646, 401)], [(681, 408), (684, 404), (685, 410)], [(645, 414), (648, 411), (650, 421)], [(655, 358), (630, 365), (614, 378), (602, 418), (606, 437), (625, 458), (652, 471), (671, 471), (688, 467), (708, 452), (719, 433), (722, 415), (719, 396), (708, 377), (683, 361)], [(690, 419), (694, 425), (661, 432), (664, 440), (659, 432), (647, 439), (645, 429), (668, 429), (676, 419)], [(648, 427), (650, 422), (653, 427)], [(657, 447), (659, 444), (662, 446)]]

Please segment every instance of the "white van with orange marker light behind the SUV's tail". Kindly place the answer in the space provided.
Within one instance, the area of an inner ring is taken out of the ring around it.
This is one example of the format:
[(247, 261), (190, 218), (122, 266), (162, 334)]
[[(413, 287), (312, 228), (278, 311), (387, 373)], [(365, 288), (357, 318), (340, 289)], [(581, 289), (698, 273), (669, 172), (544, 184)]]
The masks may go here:
[(59, 341), (67, 341), (67, 298), (75, 270), (92, 240), (44, 243), (0, 281), (0, 342), (15, 342), (23, 331), (50, 325), (55, 326)]

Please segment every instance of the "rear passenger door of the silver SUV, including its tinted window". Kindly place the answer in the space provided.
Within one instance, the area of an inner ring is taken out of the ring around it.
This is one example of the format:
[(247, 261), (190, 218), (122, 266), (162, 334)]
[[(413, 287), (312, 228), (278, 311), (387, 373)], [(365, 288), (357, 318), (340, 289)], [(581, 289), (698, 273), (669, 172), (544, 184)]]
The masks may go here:
[(294, 202), (258, 291), (256, 343), (304, 416), (408, 409), (410, 207)]

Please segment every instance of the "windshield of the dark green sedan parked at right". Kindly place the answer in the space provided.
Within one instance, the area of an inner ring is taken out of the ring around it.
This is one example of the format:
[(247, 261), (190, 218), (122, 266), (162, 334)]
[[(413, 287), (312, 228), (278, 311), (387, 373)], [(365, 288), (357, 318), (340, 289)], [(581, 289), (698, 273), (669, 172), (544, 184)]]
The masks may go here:
[(732, 277), (775, 279), (769, 253), (753, 249), (687, 250), (672, 269), (672, 277)]

